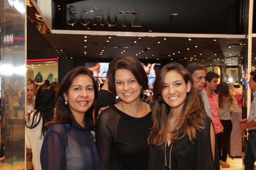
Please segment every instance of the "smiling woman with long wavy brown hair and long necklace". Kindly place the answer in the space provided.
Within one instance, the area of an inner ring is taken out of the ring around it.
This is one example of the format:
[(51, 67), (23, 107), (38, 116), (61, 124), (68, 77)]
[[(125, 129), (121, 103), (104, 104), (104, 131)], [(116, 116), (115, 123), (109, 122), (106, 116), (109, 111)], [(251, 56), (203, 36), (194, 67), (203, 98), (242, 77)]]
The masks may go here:
[(164, 65), (154, 82), (148, 170), (219, 170), (211, 118), (190, 73)]

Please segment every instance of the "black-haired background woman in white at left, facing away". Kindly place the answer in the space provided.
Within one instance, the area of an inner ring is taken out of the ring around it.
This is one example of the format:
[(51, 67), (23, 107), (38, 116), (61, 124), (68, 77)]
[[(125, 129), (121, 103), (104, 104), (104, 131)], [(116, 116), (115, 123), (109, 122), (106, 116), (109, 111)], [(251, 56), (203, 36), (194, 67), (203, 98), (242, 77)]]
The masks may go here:
[(50, 86), (40, 86), (35, 98), (35, 111), (26, 116), (26, 147), (32, 149), (34, 170), (41, 170), (40, 151), (46, 133), (44, 123), (54, 115), (54, 90)]

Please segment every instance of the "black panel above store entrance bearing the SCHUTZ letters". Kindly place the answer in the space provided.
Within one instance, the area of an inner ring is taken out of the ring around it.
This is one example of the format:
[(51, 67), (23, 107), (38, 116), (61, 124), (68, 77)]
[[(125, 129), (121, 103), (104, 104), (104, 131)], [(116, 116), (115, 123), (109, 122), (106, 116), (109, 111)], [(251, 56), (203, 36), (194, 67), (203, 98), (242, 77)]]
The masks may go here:
[(52, 1), (53, 29), (225, 34), (228, 24), (239, 22), (227, 19), (238, 12), (236, 0)]

